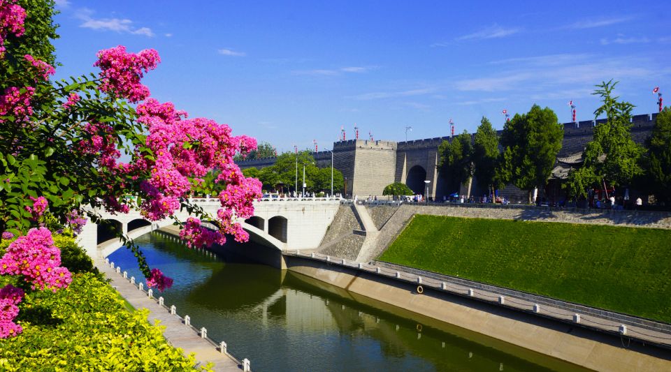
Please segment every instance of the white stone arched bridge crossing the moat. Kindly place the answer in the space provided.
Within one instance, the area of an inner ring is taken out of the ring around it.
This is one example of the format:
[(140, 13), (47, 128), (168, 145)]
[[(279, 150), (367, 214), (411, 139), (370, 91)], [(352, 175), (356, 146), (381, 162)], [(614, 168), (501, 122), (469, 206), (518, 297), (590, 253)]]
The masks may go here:
[[(216, 216), (221, 208), (218, 199), (194, 198), (190, 200), (203, 211)], [(254, 202), (254, 216), (247, 220), (239, 219), (243, 228), (250, 233), (250, 240), (277, 251), (291, 249), (317, 248), (326, 230), (338, 212), (338, 198), (273, 198)], [(122, 246), (115, 237), (123, 232), (131, 239), (173, 224), (166, 218), (161, 221), (147, 221), (140, 212), (131, 210), (128, 214), (110, 214), (103, 210), (95, 211), (108, 223), (87, 221), (79, 235), (80, 244), (92, 257), (106, 257)], [(186, 221), (189, 214), (178, 212), (175, 216)]]

